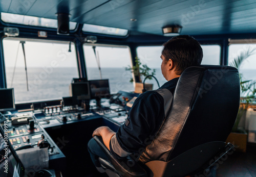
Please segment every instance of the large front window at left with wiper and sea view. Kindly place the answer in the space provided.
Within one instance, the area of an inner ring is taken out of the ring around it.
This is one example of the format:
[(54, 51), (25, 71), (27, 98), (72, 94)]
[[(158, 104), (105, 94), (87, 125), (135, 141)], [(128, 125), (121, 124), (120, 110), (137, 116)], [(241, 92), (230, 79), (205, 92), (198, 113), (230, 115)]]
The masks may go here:
[(14, 88), (15, 102), (69, 96), (69, 84), (78, 78), (74, 44), (68, 52), (68, 42), (25, 41), (28, 90), (22, 43), (5, 38), (3, 45), (7, 88)]

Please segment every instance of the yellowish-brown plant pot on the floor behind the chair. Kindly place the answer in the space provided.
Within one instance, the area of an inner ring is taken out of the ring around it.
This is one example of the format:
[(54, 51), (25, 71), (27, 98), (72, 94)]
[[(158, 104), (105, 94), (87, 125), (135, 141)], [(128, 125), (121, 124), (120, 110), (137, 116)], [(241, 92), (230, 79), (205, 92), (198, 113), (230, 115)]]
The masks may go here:
[(247, 133), (231, 132), (227, 137), (226, 143), (232, 143), (237, 151), (246, 152)]

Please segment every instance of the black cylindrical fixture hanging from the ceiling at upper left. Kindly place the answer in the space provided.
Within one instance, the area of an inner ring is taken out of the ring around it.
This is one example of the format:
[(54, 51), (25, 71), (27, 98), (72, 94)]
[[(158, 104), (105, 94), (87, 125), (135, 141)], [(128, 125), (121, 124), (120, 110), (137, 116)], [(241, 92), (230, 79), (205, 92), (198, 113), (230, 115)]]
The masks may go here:
[(69, 35), (69, 14), (57, 13), (58, 28), (57, 34)]

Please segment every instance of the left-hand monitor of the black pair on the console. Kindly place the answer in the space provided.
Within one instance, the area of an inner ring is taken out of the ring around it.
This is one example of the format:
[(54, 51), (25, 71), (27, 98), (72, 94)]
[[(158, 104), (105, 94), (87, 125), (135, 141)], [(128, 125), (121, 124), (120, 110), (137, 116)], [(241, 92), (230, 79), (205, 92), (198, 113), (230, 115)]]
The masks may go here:
[(71, 83), (70, 96), (74, 96), (77, 99), (90, 99), (90, 86), (89, 82), (77, 82)]

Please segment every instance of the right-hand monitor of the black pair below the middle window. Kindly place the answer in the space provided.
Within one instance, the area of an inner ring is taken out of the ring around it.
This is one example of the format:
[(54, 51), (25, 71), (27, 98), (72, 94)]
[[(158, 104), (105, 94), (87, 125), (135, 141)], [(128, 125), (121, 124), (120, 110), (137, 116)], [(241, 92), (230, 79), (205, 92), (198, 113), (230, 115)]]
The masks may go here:
[(91, 98), (104, 98), (110, 95), (109, 80), (91, 80)]

